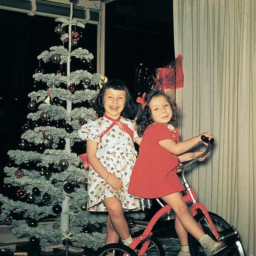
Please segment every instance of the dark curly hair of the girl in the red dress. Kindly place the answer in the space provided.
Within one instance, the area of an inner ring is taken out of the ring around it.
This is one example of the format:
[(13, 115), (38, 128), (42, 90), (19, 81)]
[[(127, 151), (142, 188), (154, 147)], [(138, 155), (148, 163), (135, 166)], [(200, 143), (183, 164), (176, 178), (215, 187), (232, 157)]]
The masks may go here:
[(174, 126), (176, 124), (176, 121), (177, 121), (177, 118), (178, 118), (178, 113), (176, 111), (176, 108), (177, 108), (176, 104), (172, 103), (170, 97), (167, 96), (166, 94), (164, 94), (164, 92), (151, 90), (145, 96), (145, 99), (144, 99), (145, 103), (146, 103), (145, 108), (142, 109), (141, 105), (138, 108), (136, 124), (137, 124), (137, 132), (138, 132), (138, 135), (140, 137), (143, 135), (143, 133), (145, 132), (148, 125), (154, 123), (154, 121), (152, 119), (152, 116), (151, 116), (151, 110), (148, 107), (148, 103), (150, 102), (150, 100), (153, 97), (157, 97), (157, 96), (160, 96), (160, 95), (163, 95), (164, 97), (166, 97), (166, 100), (169, 102), (169, 104), (172, 108), (172, 118), (171, 118), (169, 124), (172, 124)]

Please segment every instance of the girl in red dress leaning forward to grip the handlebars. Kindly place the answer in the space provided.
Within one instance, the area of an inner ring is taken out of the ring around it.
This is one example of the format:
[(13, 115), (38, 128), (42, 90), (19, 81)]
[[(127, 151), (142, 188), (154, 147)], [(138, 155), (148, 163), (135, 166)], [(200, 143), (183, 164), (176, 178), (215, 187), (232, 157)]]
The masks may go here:
[[(172, 207), (181, 244), (178, 256), (190, 256), (187, 232), (202, 244), (207, 255), (220, 252), (225, 246), (205, 235), (188, 211), (180, 193), (184, 187), (176, 173), (179, 172), (177, 167), (180, 162), (195, 159), (203, 153), (185, 152), (202, 141), (201, 135), (211, 139), (212, 133), (204, 132), (180, 142), (179, 132), (172, 126), (176, 113), (169, 97), (161, 91), (150, 91), (141, 103), (136, 122), (138, 135), (143, 137), (128, 192), (144, 198), (161, 197)], [(204, 159), (200, 158), (199, 161)]]

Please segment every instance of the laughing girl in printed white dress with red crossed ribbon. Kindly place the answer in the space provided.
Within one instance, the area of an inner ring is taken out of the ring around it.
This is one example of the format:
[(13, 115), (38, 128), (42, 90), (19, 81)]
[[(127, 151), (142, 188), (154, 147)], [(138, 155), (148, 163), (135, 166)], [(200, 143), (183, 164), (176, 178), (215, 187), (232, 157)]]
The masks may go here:
[[(137, 152), (133, 141), (133, 118), (136, 105), (126, 85), (120, 80), (110, 80), (96, 96), (95, 110), (99, 117), (84, 124), (78, 131), (86, 140), (89, 211), (108, 211), (106, 244), (125, 245), (132, 242), (124, 211), (140, 208), (139, 200), (128, 193), (130, 176)], [(122, 116), (121, 116), (122, 114)]]

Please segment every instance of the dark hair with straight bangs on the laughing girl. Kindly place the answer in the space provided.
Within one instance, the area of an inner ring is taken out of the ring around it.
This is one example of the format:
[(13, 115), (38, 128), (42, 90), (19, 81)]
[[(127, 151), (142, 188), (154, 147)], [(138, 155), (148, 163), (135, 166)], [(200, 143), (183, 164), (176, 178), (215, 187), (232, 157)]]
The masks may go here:
[(125, 91), (126, 97), (125, 97), (125, 104), (124, 104), (124, 110), (121, 113), (121, 116), (129, 119), (134, 119), (136, 113), (137, 113), (137, 105), (132, 99), (132, 95), (127, 88), (126, 84), (124, 84), (123, 81), (118, 79), (110, 79), (107, 83), (103, 84), (102, 88), (100, 89), (100, 92), (96, 95), (96, 98), (93, 102), (91, 102), (91, 105), (93, 109), (96, 112), (96, 115), (98, 117), (102, 117), (104, 114), (104, 94), (106, 89), (114, 89), (118, 91)]

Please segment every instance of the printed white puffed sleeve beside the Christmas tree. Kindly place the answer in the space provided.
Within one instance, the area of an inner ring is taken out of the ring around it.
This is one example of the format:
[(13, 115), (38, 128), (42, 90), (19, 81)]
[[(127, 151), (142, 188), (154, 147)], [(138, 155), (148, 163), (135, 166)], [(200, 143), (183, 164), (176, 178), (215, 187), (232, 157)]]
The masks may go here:
[(78, 129), (78, 135), (82, 140), (94, 140), (97, 143), (100, 142), (100, 128), (95, 124), (95, 122), (89, 122), (81, 126)]

